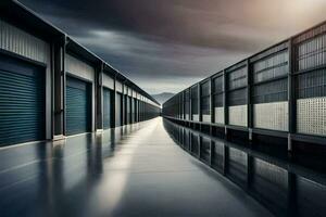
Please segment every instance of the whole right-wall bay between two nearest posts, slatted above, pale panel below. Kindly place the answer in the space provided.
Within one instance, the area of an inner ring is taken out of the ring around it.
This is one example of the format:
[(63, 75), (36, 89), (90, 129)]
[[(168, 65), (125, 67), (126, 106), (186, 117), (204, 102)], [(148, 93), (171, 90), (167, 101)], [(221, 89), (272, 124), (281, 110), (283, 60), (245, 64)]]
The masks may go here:
[(253, 127), (288, 131), (288, 43), (251, 59)]

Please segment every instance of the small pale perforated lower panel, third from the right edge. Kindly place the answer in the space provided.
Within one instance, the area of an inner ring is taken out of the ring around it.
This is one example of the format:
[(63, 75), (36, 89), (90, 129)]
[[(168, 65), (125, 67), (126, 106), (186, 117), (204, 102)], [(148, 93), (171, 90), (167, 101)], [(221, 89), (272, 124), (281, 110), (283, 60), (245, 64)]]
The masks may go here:
[(228, 107), (228, 123), (229, 125), (247, 127), (248, 125), (248, 106), (236, 105)]

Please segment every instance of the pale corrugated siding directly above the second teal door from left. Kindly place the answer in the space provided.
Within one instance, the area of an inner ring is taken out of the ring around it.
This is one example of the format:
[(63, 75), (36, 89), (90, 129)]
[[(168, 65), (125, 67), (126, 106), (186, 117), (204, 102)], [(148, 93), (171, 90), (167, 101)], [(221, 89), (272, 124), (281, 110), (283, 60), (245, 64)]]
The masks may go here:
[(89, 81), (95, 79), (95, 68), (84, 63), (83, 61), (66, 54), (65, 55), (65, 71), (79, 78), (84, 78)]

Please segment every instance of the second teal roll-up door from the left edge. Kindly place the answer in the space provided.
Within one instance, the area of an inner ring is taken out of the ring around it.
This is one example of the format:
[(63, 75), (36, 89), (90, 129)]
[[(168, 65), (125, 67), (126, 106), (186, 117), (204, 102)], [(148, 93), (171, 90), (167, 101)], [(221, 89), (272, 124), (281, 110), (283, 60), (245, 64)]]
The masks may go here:
[(90, 84), (67, 77), (66, 79), (66, 135), (90, 131)]

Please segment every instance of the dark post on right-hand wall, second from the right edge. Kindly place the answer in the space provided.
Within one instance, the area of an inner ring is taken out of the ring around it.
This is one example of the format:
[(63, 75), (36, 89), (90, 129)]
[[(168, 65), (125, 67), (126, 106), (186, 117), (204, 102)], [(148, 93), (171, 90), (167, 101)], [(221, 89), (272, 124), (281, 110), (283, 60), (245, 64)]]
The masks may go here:
[(252, 74), (250, 67), (250, 61), (247, 60), (247, 124), (249, 131), (249, 142), (252, 141), (252, 128), (253, 128), (253, 105), (251, 102), (252, 95)]

